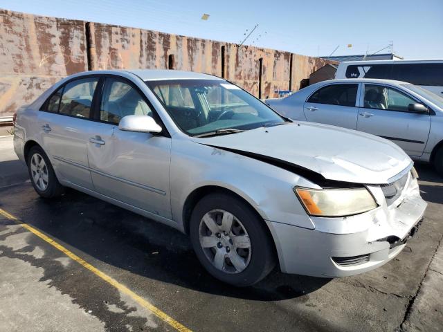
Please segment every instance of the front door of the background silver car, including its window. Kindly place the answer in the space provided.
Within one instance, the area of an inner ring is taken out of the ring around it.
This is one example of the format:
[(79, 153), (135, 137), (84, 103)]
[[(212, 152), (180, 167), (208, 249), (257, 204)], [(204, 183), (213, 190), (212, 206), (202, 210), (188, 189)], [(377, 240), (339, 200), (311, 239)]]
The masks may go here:
[(422, 156), (431, 118), (408, 111), (415, 103), (420, 102), (392, 86), (364, 84), (357, 130), (392, 140), (409, 156)]

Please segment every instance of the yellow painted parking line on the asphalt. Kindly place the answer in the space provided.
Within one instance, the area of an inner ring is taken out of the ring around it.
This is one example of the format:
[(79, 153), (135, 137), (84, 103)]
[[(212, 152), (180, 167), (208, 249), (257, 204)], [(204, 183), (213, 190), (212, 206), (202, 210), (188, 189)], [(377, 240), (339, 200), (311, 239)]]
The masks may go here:
[(102, 273), (102, 271), (98, 270), (98, 268), (95, 268), (94, 266), (89, 264), (87, 261), (84, 261), (83, 259), (81, 259), (77, 255), (75, 255), (73, 252), (71, 252), (68, 249), (64, 248), (64, 246), (62, 246), (59, 243), (55, 242), (50, 237), (47, 237), (45, 234), (43, 234), (39, 230), (36, 230), (35, 228), (33, 228), (32, 226), (28, 225), (27, 223), (23, 223), (22, 221), (19, 221), (19, 219), (17, 219), (17, 217), (15, 217), (12, 214), (6, 212), (5, 210), (0, 209), (0, 214), (5, 216), (7, 219), (11, 219), (13, 221), (16, 221), (17, 223), (19, 223), (19, 225), (21, 225), (24, 228), (26, 228), (26, 230), (28, 230), (28, 231), (32, 232), (33, 234), (37, 235), (37, 237), (39, 237), (40, 239), (43, 239), (44, 241), (46, 241), (49, 244), (51, 244), (51, 246), (53, 246), (53, 247), (57, 248), (58, 250), (60, 250), (61, 252), (63, 252), (64, 255), (70, 257), (71, 259), (76, 261), (78, 264), (80, 264), (84, 268), (87, 268), (88, 270), (90, 270), (95, 275), (98, 275), (98, 277), (100, 277), (103, 280), (105, 280), (105, 282), (111, 284), (112, 286), (117, 288), (119, 291), (129, 295), (130, 297), (132, 297), (132, 299), (134, 299), (136, 302), (138, 302), (138, 304), (143, 306), (143, 308), (146, 308), (147, 310), (149, 310), (152, 313), (154, 313), (154, 315), (159, 317), (164, 322), (167, 322), (168, 324), (170, 324), (170, 326), (172, 326), (174, 329), (177, 329), (180, 332), (191, 332), (191, 330), (188, 329), (186, 326), (184, 326), (183, 324), (177, 322), (177, 320), (174, 320), (172, 317), (168, 316), (166, 313), (163, 313), (163, 311), (161, 311), (159, 308), (157, 308), (153, 304), (150, 304), (150, 302), (147, 302), (145, 299), (143, 299), (143, 297), (141, 297), (140, 295), (137, 295), (136, 293), (131, 291), (126, 286), (123, 286), (118, 281), (116, 281), (116, 279), (109, 277), (109, 275), (107, 275), (106, 273)]

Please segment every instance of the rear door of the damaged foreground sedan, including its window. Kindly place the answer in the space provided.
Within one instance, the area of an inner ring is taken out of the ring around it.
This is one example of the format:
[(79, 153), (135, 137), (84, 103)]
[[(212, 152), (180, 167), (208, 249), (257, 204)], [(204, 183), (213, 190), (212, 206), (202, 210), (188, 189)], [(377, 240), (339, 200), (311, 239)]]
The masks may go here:
[(38, 116), (43, 148), (57, 175), (66, 181), (93, 189), (87, 158), (87, 144), (94, 122), (91, 106), (98, 77), (72, 80), (56, 91)]

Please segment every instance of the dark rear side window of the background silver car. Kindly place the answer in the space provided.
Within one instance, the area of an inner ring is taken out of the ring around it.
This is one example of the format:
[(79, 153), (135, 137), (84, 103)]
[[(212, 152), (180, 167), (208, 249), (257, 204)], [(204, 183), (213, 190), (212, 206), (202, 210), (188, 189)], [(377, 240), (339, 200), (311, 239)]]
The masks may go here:
[(311, 95), (307, 102), (354, 107), (358, 86), (358, 84), (328, 85)]

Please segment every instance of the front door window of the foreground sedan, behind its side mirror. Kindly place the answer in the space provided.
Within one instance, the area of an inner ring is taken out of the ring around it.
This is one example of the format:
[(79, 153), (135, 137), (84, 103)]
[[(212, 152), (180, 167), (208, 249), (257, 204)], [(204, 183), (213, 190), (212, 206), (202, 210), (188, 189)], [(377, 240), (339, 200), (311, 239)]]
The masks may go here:
[(100, 104), (100, 120), (118, 124), (124, 116), (152, 116), (152, 110), (131, 85), (107, 78)]

